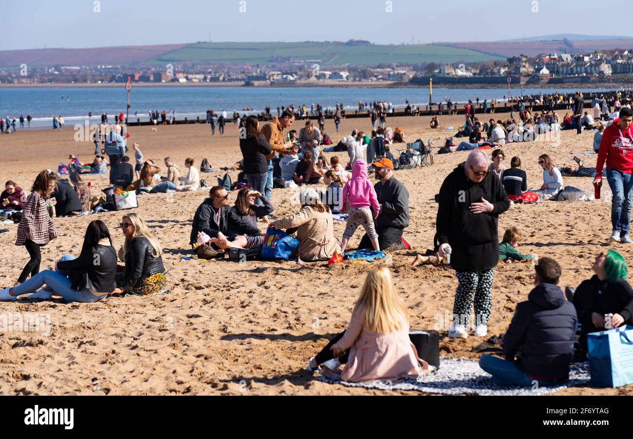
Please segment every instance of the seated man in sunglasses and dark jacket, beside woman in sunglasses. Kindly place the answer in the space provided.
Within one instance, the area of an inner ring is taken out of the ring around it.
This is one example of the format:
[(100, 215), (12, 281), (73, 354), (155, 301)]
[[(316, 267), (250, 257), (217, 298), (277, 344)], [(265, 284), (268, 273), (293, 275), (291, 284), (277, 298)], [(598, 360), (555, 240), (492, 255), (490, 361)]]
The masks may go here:
[(206, 245), (197, 247), (198, 256), (206, 259), (223, 257), (224, 250), (230, 248), (246, 248), (247, 240), (245, 236), (229, 234), (229, 193), (222, 186), (212, 187), (209, 191), (209, 198), (198, 206), (194, 215), (194, 222), (191, 230), (189, 244), (197, 242), (200, 232), (206, 233), (211, 238), (209, 243), (211, 249)]

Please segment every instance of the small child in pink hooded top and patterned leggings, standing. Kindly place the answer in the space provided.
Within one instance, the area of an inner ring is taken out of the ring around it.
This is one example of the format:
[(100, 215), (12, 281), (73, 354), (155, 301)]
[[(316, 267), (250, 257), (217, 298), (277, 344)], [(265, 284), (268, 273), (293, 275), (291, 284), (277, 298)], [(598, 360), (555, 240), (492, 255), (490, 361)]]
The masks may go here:
[[(378, 233), (373, 225), (373, 218), (378, 218), (380, 213), (380, 204), (372, 183), (367, 179), (367, 163), (362, 160), (354, 161), (352, 178), (343, 188), (341, 212), (346, 211), (348, 206), (348, 226), (343, 233), (342, 252), (345, 252), (349, 238), (354, 236), (358, 226), (365, 228), (367, 236), (372, 241), (373, 249), (380, 250)], [(373, 207), (373, 218), (370, 207)]]

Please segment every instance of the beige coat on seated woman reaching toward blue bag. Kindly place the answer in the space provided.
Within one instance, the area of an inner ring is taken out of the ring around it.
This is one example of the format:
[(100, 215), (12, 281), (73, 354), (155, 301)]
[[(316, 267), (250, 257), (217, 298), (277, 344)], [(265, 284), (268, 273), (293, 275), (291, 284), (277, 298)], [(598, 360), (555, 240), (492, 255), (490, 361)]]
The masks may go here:
[(311, 206), (303, 206), (298, 214), (277, 219), (275, 228), (296, 228), (299, 240), (295, 254), (303, 261), (328, 261), (334, 253), (341, 252), (341, 245), (334, 237), (334, 219), (332, 213), (315, 211)]

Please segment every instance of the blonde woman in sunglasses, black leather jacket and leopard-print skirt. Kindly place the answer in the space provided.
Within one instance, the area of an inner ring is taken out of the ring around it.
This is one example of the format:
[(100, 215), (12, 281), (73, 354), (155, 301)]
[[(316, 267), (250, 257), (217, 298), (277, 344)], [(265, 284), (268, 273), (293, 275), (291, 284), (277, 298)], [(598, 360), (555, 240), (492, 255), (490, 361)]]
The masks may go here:
[(116, 275), (116, 290), (111, 294), (154, 295), (165, 292), (167, 278), (163, 249), (145, 221), (135, 213), (123, 216), (125, 271)]

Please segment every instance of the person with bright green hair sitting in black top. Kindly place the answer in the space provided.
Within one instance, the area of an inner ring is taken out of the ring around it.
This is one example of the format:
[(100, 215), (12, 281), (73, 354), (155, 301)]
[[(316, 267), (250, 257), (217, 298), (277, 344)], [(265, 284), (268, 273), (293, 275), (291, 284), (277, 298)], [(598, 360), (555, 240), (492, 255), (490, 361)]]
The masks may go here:
[(613, 328), (633, 325), (633, 288), (627, 281), (627, 263), (615, 250), (601, 252), (573, 295), (580, 325), (580, 352), (587, 353), (587, 334), (605, 330), (605, 314), (613, 314)]

